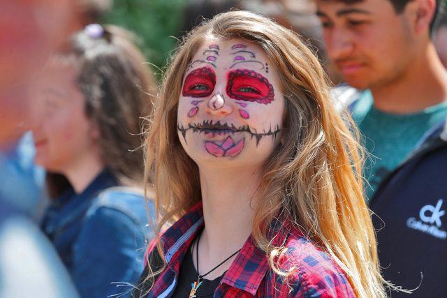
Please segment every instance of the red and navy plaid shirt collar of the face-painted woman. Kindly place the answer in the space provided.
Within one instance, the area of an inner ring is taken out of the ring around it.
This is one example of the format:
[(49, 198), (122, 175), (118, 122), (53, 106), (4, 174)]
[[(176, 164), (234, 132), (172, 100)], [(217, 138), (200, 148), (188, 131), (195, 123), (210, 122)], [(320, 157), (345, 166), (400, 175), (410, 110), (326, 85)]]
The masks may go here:
[[(186, 251), (203, 225), (203, 209), (200, 201), (161, 236), (166, 263), (177, 275)], [(284, 225), (281, 225), (281, 228), (284, 228)], [(285, 240), (284, 233), (277, 233), (273, 242), (274, 245), (281, 245)], [(268, 269), (265, 253), (254, 244), (250, 236), (223, 276), (222, 283), (255, 295)]]

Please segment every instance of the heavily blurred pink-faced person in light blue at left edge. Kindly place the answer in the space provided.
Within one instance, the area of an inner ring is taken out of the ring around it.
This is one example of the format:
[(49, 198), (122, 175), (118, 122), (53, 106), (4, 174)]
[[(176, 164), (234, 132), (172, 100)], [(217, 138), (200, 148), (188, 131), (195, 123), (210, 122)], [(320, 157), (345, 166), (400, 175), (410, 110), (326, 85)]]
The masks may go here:
[(64, 33), (98, 22), (112, 1), (16, 2), (2, 3), (0, 18), (0, 196), (37, 221), (47, 196), (45, 171), (34, 164), (36, 150), (29, 132), (34, 101), (30, 85), (50, 51), (61, 45)]

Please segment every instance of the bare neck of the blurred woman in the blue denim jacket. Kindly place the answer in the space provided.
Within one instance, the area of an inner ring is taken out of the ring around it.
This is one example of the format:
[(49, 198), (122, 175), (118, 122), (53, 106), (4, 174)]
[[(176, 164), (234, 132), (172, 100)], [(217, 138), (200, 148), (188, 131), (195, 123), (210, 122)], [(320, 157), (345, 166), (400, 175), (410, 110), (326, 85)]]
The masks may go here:
[(82, 193), (104, 167), (105, 165), (99, 156), (86, 154), (71, 163), (71, 165), (66, 166), (63, 174), (70, 181), (75, 193)]

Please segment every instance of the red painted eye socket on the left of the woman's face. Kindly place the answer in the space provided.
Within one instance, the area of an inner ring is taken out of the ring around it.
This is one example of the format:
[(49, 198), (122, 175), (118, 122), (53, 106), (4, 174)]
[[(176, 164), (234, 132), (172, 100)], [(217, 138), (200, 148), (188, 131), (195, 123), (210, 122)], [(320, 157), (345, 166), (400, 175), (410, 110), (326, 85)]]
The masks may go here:
[(197, 68), (189, 73), (183, 84), (182, 96), (206, 97), (212, 94), (216, 74), (208, 67)]

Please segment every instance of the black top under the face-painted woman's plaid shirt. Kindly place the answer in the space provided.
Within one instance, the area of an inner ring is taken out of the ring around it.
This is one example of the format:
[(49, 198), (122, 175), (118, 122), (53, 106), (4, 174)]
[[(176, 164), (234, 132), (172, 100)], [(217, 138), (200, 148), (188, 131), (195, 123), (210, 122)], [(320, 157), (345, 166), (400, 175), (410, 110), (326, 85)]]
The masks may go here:
[[(214, 290), (221, 282), (223, 275), (210, 281), (208, 279), (203, 279), (202, 283), (197, 289), (196, 297), (212, 297), (214, 295)], [(191, 292), (191, 284), (197, 281), (198, 273), (196, 267), (193, 263), (193, 255), (191, 249), (186, 251), (182, 265), (180, 265), (179, 280), (172, 297), (174, 298), (184, 298), (189, 297), (189, 292)]]

